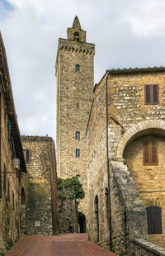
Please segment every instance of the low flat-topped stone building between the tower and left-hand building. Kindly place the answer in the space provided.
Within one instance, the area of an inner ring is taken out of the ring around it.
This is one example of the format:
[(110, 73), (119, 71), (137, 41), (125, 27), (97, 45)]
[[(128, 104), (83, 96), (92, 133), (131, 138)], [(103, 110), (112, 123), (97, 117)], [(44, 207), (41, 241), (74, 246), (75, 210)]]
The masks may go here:
[[(52, 151), (54, 142), (47, 136), (21, 136), (21, 140), (24, 149), (30, 150), (30, 160), (26, 163), (29, 173), (26, 234), (53, 235), (53, 230), (57, 231), (57, 226), (54, 226), (57, 222), (55, 155)], [(54, 202), (52, 201), (53, 191)]]

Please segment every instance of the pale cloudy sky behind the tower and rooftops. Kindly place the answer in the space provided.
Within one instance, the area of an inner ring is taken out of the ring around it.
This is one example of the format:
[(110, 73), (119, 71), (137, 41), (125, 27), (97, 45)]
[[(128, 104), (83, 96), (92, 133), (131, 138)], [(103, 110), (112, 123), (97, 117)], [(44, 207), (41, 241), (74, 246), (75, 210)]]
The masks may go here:
[(21, 135), (55, 139), (54, 65), (77, 14), (96, 44), (95, 83), (106, 69), (165, 65), (164, 0), (0, 0)]

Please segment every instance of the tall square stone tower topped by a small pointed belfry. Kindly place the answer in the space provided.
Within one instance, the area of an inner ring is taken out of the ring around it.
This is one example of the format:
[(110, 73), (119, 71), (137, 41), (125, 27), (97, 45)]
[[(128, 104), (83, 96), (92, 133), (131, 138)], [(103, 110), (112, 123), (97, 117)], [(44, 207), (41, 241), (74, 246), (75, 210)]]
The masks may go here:
[(78, 211), (87, 216), (87, 138), (92, 106), (95, 45), (86, 42), (76, 16), (68, 38), (59, 38), (56, 59), (57, 84), (57, 172), (60, 178), (79, 175), (85, 198)]

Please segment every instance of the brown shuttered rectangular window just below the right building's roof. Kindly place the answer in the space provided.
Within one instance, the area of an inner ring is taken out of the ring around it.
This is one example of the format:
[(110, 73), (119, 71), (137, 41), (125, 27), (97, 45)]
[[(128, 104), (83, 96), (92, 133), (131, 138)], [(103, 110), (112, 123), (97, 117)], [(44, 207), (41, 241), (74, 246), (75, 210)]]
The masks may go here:
[(144, 85), (145, 104), (158, 104), (158, 84)]

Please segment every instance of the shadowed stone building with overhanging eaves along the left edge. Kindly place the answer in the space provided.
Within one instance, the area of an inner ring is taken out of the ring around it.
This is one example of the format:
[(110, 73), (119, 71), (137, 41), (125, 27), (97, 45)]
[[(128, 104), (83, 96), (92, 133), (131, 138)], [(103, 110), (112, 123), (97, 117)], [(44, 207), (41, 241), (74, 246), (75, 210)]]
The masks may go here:
[(0, 253), (25, 228), (26, 164), (0, 34)]

